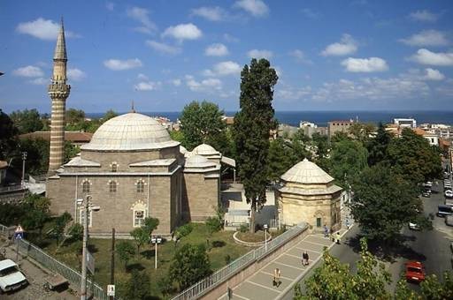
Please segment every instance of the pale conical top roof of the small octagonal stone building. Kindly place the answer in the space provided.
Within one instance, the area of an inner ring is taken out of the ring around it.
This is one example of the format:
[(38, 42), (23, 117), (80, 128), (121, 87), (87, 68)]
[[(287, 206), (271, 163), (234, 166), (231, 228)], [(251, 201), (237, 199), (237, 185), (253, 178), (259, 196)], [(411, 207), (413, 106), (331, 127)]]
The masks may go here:
[(316, 163), (307, 159), (296, 163), (291, 169), (281, 176), (287, 182), (297, 184), (328, 184), (334, 181), (334, 177), (328, 175)]

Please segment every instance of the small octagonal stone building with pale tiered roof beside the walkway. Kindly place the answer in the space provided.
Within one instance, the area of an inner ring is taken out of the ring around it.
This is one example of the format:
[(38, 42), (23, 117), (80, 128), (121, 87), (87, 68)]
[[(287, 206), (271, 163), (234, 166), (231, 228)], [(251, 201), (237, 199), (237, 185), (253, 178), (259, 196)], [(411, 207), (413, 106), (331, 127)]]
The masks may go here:
[(280, 224), (295, 225), (302, 221), (314, 229), (339, 229), (342, 188), (334, 178), (315, 163), (304, 159), (281, 177), (275, 191)]

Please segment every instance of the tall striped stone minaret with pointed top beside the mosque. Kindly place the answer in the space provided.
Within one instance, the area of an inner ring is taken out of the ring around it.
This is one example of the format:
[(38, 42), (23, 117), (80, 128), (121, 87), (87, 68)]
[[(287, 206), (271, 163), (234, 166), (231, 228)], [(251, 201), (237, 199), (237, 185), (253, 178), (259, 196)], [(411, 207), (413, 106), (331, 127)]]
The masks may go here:
[(52, 116), (50, 118), (50, 155), (49, 172), (52, 173), (63, 164), (65, 147), (65, 111), (66, 98), (71, 86), (66, 85), (66, 43), (63, 19), (58, 33), (57, 46), (53, 56), (52, 83), (49, 86), (49, 96), (52, 100)]

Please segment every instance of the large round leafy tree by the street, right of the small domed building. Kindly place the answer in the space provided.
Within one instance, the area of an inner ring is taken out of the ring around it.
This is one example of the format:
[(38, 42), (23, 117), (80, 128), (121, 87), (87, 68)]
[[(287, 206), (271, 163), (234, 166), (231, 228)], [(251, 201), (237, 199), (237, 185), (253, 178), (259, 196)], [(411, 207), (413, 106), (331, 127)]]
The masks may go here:
[(418, 214), (421, 200), (415, 186), (386, 165), (365, 169), (352, 184), (351, 213), (370, 240), (395, 241), (409, 221), (429, 221)]

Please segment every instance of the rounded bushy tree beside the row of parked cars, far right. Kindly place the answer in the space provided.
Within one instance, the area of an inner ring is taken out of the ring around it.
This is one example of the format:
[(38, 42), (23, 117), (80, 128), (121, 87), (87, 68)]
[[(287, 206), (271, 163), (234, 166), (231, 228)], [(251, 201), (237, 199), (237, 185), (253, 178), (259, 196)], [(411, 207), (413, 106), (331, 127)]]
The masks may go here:
[(401, 138), (392, 139), (388, 146), (390, 164), (396, 172), (421, 184), (434, 178), (441, 178), (441, 155), (439, 148), (409, 128), (404, 128)]

